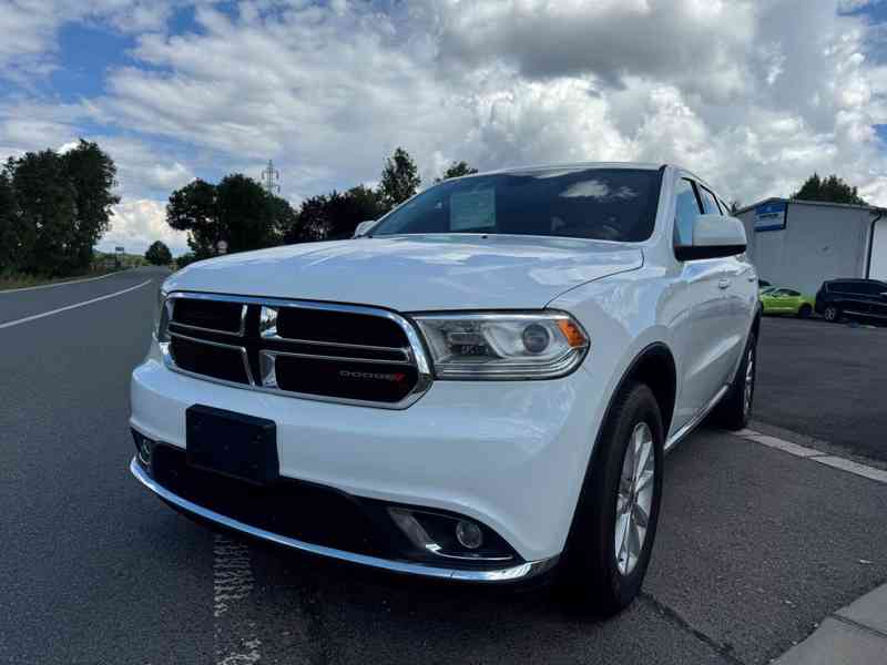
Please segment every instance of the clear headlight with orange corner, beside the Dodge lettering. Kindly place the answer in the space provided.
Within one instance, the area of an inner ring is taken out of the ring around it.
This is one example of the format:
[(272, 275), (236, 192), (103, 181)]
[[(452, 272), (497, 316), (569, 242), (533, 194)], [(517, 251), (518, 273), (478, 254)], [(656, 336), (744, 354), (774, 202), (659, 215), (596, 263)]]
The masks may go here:
[(589, 348), (568, 314), (432, 314), (414, 317), (439, 379), (551, 379), (575, 369)]

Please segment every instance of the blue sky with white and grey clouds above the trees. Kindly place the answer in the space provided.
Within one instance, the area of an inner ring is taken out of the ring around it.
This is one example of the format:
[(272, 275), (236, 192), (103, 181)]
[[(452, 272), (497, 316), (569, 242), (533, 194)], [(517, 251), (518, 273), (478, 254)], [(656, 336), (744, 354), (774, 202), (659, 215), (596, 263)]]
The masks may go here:
[(571, 161), (675, 162), (731, 201), (814, 171), (887, 205), (887, 0), (0, 0), (0, 158), (118, 165), (100, 249), (184, 234), (194, 177), (281, 194)]

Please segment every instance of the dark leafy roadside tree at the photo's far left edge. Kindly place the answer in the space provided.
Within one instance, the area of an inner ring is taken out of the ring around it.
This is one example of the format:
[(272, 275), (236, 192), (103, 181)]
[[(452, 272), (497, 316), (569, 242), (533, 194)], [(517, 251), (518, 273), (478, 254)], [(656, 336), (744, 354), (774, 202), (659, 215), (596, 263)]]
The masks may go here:
[(27, 153), (12, 167), (21, 269), (51, 276), (71, 274), (79, 266), (77, 191), (61, 155), (51, 150)]

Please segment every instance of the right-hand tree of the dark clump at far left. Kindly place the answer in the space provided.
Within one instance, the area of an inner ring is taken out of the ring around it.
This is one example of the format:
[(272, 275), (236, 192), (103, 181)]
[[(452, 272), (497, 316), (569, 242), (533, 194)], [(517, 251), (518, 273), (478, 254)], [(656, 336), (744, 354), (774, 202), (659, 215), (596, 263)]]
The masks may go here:
[(111, 206), (120, 203), (120, 196), (111, 192), (116, 185), (118, 168), (96, 143), (82, 139), (61, 161), (74, 190), (77, 208), (70, 262), (72, 268), (84, 269), (92, 263), (92, 248), (111, 225)]

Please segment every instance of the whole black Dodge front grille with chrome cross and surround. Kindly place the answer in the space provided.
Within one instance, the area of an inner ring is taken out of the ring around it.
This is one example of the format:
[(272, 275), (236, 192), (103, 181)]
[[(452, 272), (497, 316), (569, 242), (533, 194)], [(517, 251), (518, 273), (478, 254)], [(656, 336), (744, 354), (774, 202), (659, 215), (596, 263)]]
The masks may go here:
[(430, 385), (412, 326), (370, 307), (174, 293), (160, 339), (172, 369), (298, 397), (405, 408)]

